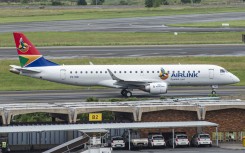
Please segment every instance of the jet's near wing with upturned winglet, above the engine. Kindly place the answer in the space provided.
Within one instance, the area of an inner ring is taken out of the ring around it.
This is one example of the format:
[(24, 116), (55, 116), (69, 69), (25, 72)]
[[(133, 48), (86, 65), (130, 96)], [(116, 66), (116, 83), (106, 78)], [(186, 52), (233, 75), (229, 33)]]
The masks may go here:
[(111, 70), (107, 69), (111, 78), (113, 80), (116, 80), (117, 82), (115, 83), (116, 85), (121, 85), (121, 86), (142, 86), (145, 85), (147, 83), (151, 83), (151, 82), (159, 82), (159, 80), (155, 80), (155, 79), (151, 79), (151, 80), (145, 80), (145, 79), (134, 79), (134, 80), (129, 80), (129, 79), (121, 79), (118, 78), (115, 74), (113, 74), (111, 72)]

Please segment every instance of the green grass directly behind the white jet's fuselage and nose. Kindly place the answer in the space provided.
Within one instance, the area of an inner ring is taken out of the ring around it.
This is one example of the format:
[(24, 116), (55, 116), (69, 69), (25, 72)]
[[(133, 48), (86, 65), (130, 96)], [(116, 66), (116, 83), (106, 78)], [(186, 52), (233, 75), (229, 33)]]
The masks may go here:
[[(55, 59), (59, 64), (215, 64), (226, 68), (238, 76), (241, 80), (236, 85), (245, 85), (245, 56), (242, 57), (152, 57), (152, 58), (81, 58), (81, 59)], [(9, 72), (9, 65), (19, 65), (18, 60), (0, 60), (0, 91), (17, 90), (65, 90), (82, 89), (77, 87), (52, 83), (25, 76), (15, 75)]]

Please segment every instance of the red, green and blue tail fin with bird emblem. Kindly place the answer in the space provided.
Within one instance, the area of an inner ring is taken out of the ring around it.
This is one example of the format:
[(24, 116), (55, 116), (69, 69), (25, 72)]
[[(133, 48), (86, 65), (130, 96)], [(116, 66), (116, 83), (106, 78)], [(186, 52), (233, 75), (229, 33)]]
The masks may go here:
[(21, 67), (58, 65), (45, 59), (23, 33), (14, 32), (13, 35)]

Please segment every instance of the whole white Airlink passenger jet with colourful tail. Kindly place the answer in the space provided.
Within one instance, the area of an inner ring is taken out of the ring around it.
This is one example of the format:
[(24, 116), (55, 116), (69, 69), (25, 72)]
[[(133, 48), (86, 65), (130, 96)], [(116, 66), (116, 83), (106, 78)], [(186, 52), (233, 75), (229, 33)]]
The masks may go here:
[(14, 32), (20, 66), (10, 72), (33, 78), (78, 86), (105, 86), (121, 89), (125, 97), (133, 89), (165, 94), (168, 86), (211, 86), (240, 80), (216, 65), (58, 65), (45, 59), (24, 34)]

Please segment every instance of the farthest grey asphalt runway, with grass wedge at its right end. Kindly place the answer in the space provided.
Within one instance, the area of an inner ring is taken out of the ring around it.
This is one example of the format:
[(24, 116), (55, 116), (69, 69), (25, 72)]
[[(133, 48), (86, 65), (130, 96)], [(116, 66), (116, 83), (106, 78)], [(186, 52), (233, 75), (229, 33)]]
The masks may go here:
[(217, 32), (245, 31), (245, 28), (184, 28), (168, 24), (245, 20), (245, 12), (171, 15), (116, 19), (93, 19), (1, 24), (0, 33), (37, 31), (113, 31), (113, 32)]

